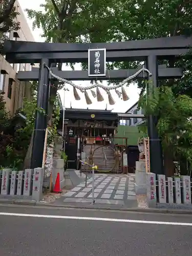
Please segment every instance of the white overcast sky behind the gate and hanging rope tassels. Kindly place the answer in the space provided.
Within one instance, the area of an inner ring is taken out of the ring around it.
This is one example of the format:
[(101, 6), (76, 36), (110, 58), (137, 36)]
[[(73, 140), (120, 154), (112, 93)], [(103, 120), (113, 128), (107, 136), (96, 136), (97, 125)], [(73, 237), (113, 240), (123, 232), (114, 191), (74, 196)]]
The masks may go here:
[[(28, 9), (33, 9), (33, 10), (37, 10), (37, 11), (40, 10), (39, 5), (45, 3), (44, 0), (33, 0), (33, 1), (18, 0), (18, 2), (20, 4), (20, 7), (22, 7), (23, 10), (28, 8)], [(24, 12), (24, 13), (27, 18), (28, 25), (31, 28), (31, 31), (35, 38), (35, 41), (43, 42), (44, 38), (42, 38), (40, 36), (42, 34), (42, 30), (41, 29), (32, 30), (32, 20), (30, 20), (27, 17), (26, 12)], [(63, 69), (70, 70), (69, 67), (64, 67)], [(75, 70), (80, 70), (79, 64), (75, 65)], [(79, 86), (89, 86), (90, 85), (90, 81), (73, 81), (73, 82)], [(103, 82), (103, 84), (106, 84), (106, 82)], [(81, 100), (76, 101), (73, 96), (73, 88), (71, 86), (67, 86), (67, 88), (69, 89), (69, 91), (67, 91), (66, 93), (64, 93), (63, 90), (59, 91), (62, 104), (65, 105), (65, 108), (70, 108), (70, 106), (72, 106), (72, 108), (79, 108), (79, 109), (89, 108), (89, 109), (103, 110), (106, 108), (106, 104), (107, 104), (108, 110), (112, 110), (113, 112), (118, 112), (118, 113), (124, 113), (126, 110), (131, 108), (131, 106), (139, 99), (139, 89), (137, 88), (136, 84), (130, 84), (129, 87), (125, 87), (126, 93), (130, 98), (127, 101), (123, 101), (120, 98), (118, 98), (117, 94), (114, 92), (114, 90), (112, 90), (111, 93), (115, 100), (114, 105), (109, 104), (108, 95), (106, 95), (106, 92), (104, 92), (102, 89), (100, 91), (103, 94), (104, 101), (97, 102), (96, 98), (93, 98), (91, 95), (91, 92), (88, 91), (89, 96), (93, 103), (91, 105), (87, 105), (86, 100), (84, 99), (84, 95), (82, 93), (79, 92), (79, 96), (80, 96)]]

